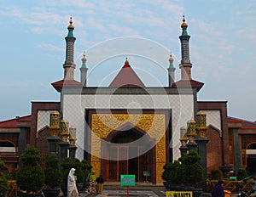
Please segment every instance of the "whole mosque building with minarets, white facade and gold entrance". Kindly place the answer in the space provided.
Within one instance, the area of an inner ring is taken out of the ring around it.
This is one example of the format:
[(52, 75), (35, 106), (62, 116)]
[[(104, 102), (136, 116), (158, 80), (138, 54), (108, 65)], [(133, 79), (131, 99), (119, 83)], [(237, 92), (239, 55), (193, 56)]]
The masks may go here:
[(255, 171), (256, 123), (229, 117), (226, 101), (197, 100), (204, 83), (192, 76), (190, 36), (184, 17), (181, 28), (179, 81), (175, 81), (171, 54), (163, 76), (168, 78), (167, 87), (145, 86), (128, 58), (108, 87), (89, 87), (85, 53), (80, 82), (74, 79), (76, 37), (71, 19), (65, 37), (64, 77), (52, 83), (60, 93), (60, 102), (32, 102), (31, 115), (0, 122), (1, 159), (9, 169), (15, 168), (29, 145), (47, 157), (49, 117), (55, 114), (67, 128), (75, 127), (76, 157), (89, 160), (96, 174), (113, 182), (119, 181), (120, 174), (135, 174), (137, 182), (144, 182), (144, 172), (149, 172), (150, 182), (162, 183), (166, 161), (177, 160), (181, 154), (183, 128), (197, 115), (206, 115), (207, 174), (216, 169)]

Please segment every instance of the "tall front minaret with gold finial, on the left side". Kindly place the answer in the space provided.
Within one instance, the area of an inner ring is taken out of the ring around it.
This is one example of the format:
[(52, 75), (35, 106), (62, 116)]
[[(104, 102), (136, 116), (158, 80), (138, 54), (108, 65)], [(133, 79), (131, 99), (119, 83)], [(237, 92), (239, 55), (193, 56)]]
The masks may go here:
[(68, 33), (67, 37), (65, 37), (66, 40), (66, 60), (63, 65), (64, 68), (64, 79), (65, 80), (73, 80), (73, 72), (76, 68), (76, 65), (73, 62), (73, 53), (74, 53), (74, 42), (76, 40), (75, 37), (73, 37), (73, 30), (74, 27), (72, 25), (72, 17), (70, 17), (69, 25), (67, 27)]

